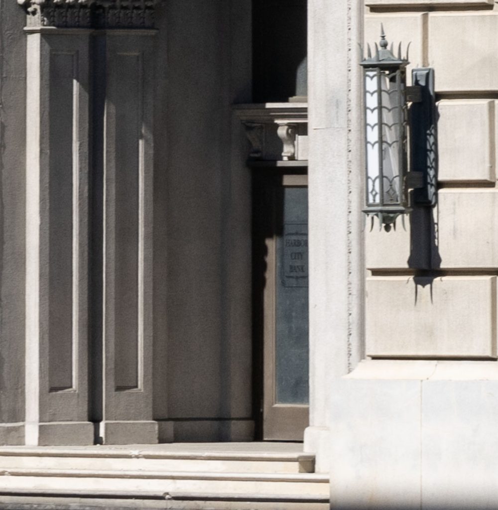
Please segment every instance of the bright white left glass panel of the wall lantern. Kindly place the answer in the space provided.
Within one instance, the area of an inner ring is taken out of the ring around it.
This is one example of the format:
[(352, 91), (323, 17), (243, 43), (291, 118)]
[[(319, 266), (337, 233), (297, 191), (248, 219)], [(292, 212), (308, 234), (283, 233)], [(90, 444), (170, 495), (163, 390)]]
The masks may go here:
[(366, 201), (369, 205), (380, 203), (380, 160), (379, 160), (379, 72), (365, 71), (366, 110)]

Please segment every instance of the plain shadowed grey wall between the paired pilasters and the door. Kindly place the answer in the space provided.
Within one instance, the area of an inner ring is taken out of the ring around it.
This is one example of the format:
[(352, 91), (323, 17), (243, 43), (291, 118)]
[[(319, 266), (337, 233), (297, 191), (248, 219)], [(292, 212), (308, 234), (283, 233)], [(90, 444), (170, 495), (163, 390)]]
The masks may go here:
[[(250, 174), (231, 111), (250, 101), (250, 4), (169, 0), (156, 13), (156, 419), (251, 418)], [(181, 423), (175, 440), (230, 438)]]

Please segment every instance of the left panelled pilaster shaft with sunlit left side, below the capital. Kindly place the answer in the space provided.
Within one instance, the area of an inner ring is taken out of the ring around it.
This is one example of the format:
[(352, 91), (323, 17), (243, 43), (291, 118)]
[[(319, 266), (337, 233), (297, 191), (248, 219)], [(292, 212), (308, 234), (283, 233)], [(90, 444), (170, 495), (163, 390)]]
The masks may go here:
[(27, 29), (25, 442), (91, 444), (89, 30)]

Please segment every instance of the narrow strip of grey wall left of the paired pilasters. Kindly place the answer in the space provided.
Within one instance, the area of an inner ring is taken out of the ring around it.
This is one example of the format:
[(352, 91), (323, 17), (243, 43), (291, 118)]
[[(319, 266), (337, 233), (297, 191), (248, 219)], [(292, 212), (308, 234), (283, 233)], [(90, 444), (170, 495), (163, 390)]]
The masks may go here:
[[(24, 419), (24, 21), (15, 2), (0, 2), (0, 422), (4, 423)], [(4, 433), (7, 429), (0, 431), (0, 440)], [(9, 441), (16, 442), (12, 437)]]

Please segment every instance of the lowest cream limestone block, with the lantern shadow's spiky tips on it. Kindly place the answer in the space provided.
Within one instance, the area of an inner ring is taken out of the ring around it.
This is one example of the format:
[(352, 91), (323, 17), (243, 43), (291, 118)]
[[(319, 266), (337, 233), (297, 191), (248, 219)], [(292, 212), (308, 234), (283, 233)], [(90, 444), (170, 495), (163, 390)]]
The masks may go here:
[(367, 355), (496, 355), (495, 276), (376, 276), (366, 293)]

